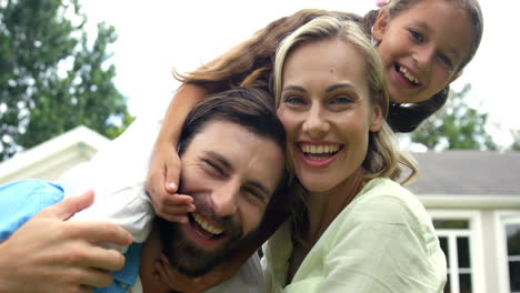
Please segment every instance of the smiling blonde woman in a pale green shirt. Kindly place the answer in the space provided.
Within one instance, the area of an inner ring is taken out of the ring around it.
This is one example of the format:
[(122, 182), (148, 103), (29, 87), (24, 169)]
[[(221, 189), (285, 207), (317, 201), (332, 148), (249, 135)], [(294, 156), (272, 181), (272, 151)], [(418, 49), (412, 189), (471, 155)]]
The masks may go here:
[(431, 220), (393, 181), (416, 169), (384, 121), (382, 70), (352, 21), (317, 18), (281, 42), (274, 94), (301, 204), (264, 246), (270, 292), (442, 291)]

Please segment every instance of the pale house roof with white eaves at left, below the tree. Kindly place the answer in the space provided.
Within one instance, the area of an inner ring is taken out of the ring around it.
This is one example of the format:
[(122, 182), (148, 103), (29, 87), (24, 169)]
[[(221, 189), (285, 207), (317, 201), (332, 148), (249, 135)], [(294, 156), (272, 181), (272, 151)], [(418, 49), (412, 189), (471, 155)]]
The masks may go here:
[(68, 169), (90, 160), (109, 141), (86, 127), (74, 128), (1, 162), (0, 184), (28, 178), (54, 181)]

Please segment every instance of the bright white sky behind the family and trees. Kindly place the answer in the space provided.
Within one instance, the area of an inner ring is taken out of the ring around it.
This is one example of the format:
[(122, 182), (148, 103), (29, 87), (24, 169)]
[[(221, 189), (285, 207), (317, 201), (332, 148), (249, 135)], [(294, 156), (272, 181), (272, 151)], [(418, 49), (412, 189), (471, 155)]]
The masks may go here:
[[(452, 83), (461, 90), (471, 83), (467, 102), (489, 113), (490, 133), (509, 144), (510, 129), (520, 130), (518, 34), (513, 21), (518, 0), (481, 0), (484, 32), (479, 51)], [(269, 22), (303, 8), (342, 10), (364, 14), (374, 0), (84, 0), (89, 30), (104, 21), (119, 36), (109, 47), (116, 64), (116, 87), (128, 98), (134, 115), (163, 114), (179, 83), (172, 70), (187, 72), (251, 37)]]

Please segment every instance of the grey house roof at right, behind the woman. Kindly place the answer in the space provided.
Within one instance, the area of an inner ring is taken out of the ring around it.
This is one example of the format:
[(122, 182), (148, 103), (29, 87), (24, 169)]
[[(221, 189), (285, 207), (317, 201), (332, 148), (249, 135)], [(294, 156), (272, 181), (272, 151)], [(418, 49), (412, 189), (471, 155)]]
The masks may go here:
[(417, 194), (518, 195), (520, 152), (443, 151), (413, 153), (419, 179)]

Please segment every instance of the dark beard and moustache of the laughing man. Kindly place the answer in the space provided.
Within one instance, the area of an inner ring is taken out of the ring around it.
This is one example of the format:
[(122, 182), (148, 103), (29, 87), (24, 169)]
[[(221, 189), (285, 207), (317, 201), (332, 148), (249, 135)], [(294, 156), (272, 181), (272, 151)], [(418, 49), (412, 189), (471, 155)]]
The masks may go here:
[[(207, 251), (198, 247), (192, 241), (188, 240), (182, 231), (180, 223), (172, 223), (158, 218), (159, 233), (162, 242), (163, 253), (170, 264), (181, 274), (188, 276), (200, 276), (210, 272), (223, 260), (239, 250), (249, 236), (243, 236), (242, 225), (233, 216), (217, 218), (213, 214), (210, 203), (200, 196), (193, 199), (197, 206), (197, 213), (203, 218), (211, 219), (219, 223), (223, 230), (226, 241), (213, 251)], [(189, 215), (192, 225), (192, 215)], [(188, 228), (191, 229), (191, 228)], [(248, 233), (248, 235), (251, 233)]]

